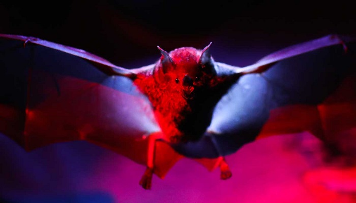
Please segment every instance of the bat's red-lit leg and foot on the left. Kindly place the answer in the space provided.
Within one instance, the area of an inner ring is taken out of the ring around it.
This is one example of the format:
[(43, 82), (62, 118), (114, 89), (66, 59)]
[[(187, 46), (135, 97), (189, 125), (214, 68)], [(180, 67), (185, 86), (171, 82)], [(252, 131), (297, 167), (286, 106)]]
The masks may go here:
[(147, 138), (149, 139), (147, 147), (147, 168), (139, 182), (139, 184), (146, 190), (151, 189), (152, 176), (154, 172), (155, 146), (156, 141), (161, 138), (161, 132), (151, 133)]

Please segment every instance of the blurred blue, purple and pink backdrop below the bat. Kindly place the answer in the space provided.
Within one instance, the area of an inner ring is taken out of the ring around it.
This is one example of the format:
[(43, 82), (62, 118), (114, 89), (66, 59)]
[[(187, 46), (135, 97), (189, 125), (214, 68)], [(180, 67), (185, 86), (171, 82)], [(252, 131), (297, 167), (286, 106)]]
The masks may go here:
[(164, 179), (154, 176), (151, 190), (138, 184), (145, 167), (113, 151), (80, 141), (28, 153), (0, 138), (0, 184), (6, 186), (0, 193), (7, 199), (102, 194), (108, 202), (356, 201), (355, 167), (345, 167), (346, 157), (325, 161), (320, 141), (308, 132), (260, 139), (227, 156), (232, 178), (226, 181), (219, 170), (181, 159)]

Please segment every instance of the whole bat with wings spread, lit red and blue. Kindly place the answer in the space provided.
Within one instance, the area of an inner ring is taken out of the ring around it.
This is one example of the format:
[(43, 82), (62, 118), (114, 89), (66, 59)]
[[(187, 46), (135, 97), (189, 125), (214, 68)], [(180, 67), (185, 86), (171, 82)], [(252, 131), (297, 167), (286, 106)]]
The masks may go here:
[(156, 63), (125, 69), (1, 34), (0, 132), (26, 150), (74, 140), (113, 150), (146, 166), (144, 189), (183, 157), (229, 179), (224, 156), (287, 132), (347, 148), (338, 136), (353, 138), (356, 125), (353, 38), (325, 36), (245, 67), (215, 61), (211, 46), (158, 46)]

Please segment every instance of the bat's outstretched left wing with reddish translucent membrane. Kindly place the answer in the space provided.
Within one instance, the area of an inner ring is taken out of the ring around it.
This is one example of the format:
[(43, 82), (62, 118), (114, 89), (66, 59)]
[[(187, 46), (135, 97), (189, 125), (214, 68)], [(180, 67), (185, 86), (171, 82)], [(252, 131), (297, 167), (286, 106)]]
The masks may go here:
[(86, 140), (146, 164), (145, 136), (160, 128), (129, 70), (72, 47), (0, 35), (0, 71), (0, 131), (26, 150)]

